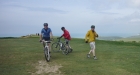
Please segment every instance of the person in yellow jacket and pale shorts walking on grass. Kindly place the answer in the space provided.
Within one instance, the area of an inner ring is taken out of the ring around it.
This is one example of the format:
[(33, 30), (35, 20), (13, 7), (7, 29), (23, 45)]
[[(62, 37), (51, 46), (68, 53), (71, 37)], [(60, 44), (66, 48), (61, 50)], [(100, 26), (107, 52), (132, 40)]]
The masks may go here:
[(89, 51), (89, 53), (87, 54), (87, 57), (90, 58), (90, 53), (93, 53), (93, 58), (97, 59), (95, 56), (95, 40), (96, 37), (98, 37), (98, 34), (95, 31), (95, 26), (91, 25), (91, 30), (89, 30), (85, 36), (85, 41), (86, 43), (90, 44), (91, 50)]

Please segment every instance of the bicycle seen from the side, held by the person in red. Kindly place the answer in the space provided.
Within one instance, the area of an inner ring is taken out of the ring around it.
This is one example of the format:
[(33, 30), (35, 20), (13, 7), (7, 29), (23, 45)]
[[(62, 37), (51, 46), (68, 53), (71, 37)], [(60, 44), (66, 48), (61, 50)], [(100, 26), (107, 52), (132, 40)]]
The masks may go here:
[(59, 52), (62, 50), (62, 53), (67, 55), (69, 52), (71, 52), (71, 49), (69, 47), (68, 44), (66, 44), (65, 42), (61, 42), (60, 39), (61, 38), (57, 38), (58, 41), (54, 42), (51, 46), (53, 52)]

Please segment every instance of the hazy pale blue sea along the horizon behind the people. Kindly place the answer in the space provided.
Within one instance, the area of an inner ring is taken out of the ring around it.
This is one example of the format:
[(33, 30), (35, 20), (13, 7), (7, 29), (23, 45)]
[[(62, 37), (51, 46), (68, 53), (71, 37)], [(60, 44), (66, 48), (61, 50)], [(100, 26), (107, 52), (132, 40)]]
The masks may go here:
[[(34, 35), (36, 35), (36, 33), (32, 33)], [(21, 36), (27, 36), (27, 35), (31, 35), (31, 34), (27, 34), (27, 33), (22, 33), (22, 34), (0, 34), (0, 37), (21, 37)], [(61, 33), (53, 33), (54, 36), (61, 36)], [(86, 33), (71, 33), (71, 37), (73, 38), (85, 38)], [(133, 33), (98, 33), (99, 36), (101, 37), (130, 37), (130, 36), (134, 36), (136, 34)]]

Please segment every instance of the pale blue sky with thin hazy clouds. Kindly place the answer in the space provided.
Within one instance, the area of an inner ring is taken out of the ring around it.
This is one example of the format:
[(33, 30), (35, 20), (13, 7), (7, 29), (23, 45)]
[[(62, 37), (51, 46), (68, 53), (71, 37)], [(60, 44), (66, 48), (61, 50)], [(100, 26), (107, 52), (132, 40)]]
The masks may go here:
[(103, 34), (140, 33), (140, 0), (0, 0), (0, 34), (40, 33), (47, 22), (53, 34), (64, 26), (83, 34), (96, 26)]

